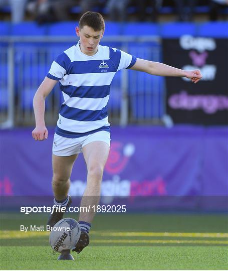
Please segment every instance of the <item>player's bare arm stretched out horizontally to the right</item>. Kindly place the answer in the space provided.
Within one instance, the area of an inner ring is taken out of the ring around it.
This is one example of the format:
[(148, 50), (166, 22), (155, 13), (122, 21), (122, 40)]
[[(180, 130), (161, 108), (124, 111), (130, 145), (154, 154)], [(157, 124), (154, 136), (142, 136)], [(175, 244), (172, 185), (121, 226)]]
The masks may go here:
[(147, 72), (152, 75), (187, 77), (190, 78), (191, 82), (194, 83), (197, 83), (202, 78), (199, 70), (185, 71), (163, 63), (148, 61), (140, 58), (137, 58), (135, 64), (130, 69)]

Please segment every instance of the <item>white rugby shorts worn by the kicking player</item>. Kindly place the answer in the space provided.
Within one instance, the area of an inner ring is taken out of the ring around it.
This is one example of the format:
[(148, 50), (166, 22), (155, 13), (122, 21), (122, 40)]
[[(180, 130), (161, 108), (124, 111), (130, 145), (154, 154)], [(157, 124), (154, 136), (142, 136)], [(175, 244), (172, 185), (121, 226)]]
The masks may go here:
[(84, 146), (94, 141), (103, 141), (110, 147), (110, 132), (98, 131), (76, 139), (64, 138), (55, 133), (52, 152), (56, 156), (79, 154)]

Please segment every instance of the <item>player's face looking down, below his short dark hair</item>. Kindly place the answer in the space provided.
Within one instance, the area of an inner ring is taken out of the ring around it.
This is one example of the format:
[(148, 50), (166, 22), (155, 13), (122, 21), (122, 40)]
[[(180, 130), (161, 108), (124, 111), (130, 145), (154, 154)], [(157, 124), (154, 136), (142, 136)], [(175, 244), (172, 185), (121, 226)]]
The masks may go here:
[(80, 37), (80, 48), (82, 53), (88, 56), (96, 54), (104, 31), (94, 31), (91, 27), (84, 26), (82, 29), (76, 27), (76, 34)]

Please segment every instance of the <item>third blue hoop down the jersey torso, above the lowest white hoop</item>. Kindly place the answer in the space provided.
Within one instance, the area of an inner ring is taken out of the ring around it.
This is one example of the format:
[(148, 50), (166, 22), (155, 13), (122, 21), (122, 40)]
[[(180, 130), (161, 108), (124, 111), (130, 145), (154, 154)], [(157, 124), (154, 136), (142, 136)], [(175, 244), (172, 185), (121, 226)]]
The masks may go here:
[(65, 118), (73, 120), (95, 121), (107, 117), (108, 111), (107, 106), (105, 106), (102, 110), (81, 110), (78, 108), (69, 107), (66, 104), (62, 104), (60, 114)]

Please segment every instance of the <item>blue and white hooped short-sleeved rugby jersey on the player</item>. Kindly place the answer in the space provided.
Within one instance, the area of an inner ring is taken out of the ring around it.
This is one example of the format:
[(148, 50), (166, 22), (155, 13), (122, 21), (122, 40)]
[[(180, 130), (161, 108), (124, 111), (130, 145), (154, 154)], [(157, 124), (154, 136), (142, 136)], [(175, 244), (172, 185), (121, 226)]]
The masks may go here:
[(110, 131), (107, 103), (115, 73), (132, 67), (136, 57), (107, 46), (98, 46), (93, 56), (77, 45), (64, 51), (47, 77), (60, 81), (64, 102), (59, 111), (56, 133), (78, 138), (99, 130)]

